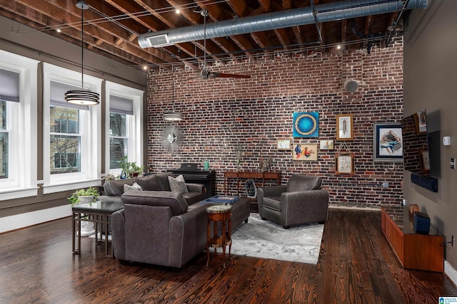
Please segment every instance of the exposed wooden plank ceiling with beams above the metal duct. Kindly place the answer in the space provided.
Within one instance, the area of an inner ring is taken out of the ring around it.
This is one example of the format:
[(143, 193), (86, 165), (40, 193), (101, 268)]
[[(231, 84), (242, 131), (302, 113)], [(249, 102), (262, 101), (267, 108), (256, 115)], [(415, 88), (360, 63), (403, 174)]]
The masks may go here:
[[(86, 0), (84, 47), (136, 68), (169, 68), (172, 54), (192, 68), (201, 67), (204, 41), (179, 43), (162, 48), (141, 48), (138, 34), (206, 22), (268, 14), (274, 11), (328, 4), (337, 0)], [(0, 15), (31, 28), (81, 46), (81, 9), (74, 0), (0, 0)], [(176, 14), (180, 9), (180, 14)], [(298, 54), (309, 51), (385, 46), (388, 26), (399, 13), (378, 14), (278, 28), (224, 38), (207, 39), (206, 60), (224, 64), (228, 60), (256, 60), (263, 54)], [(60, 29), (60, 32), (56, 31)], [(319, 31), (321, 41), (319, 41)]]

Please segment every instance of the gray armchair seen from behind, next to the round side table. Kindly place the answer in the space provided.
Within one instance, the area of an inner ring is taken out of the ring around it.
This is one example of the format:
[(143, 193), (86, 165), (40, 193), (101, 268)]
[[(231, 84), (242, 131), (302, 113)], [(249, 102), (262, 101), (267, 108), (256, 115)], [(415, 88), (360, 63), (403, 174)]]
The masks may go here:
[(111, 216), (114, 256), (181, 268), (206, 248), (206, 205), (189, 206), (179, 192), (127, 191)]

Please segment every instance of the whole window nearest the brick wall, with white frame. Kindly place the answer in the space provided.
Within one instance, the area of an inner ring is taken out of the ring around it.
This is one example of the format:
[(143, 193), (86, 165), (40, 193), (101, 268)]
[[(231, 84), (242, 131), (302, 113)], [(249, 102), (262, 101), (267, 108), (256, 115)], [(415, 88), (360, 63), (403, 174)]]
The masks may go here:
[(106, 81), (106, 171), (120, 174), (121, 160), (143, 163), (143, 94)]

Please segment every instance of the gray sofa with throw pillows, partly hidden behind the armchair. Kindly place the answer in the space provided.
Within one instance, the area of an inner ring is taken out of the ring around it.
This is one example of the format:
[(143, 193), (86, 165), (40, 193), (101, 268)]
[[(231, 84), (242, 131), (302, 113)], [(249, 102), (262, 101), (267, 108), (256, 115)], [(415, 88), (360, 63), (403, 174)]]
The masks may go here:
[[(104, 183), (104, 195), (99, 196), (100, 201), (121, 201), (121, 195), (124, 194), (124, 184), (129, 186), (134, 183), (139, 184), (144, 191), (170, 191), (168, 177), (174, 177), (172, 172), (164, 172), (147, 175), (146, 177), (134, 177), (131, 179), (116, 179)], [(206, 188), (204, 184), (186, 183), (188, 193), (182, 196), (187, 204), (195, 204), (203, 200)]]

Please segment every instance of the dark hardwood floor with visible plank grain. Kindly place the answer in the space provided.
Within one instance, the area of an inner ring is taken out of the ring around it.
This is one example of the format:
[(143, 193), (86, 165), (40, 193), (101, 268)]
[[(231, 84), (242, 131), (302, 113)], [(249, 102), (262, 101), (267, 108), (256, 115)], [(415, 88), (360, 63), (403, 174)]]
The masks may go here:
[(401, 268), (379, 211), (330, 209), (317, 265), (232, 256), (180, 271), (104, 256), (71, 219), (0, 235), (0, 303), (438, 303), (457, 296), (443, 273)]

